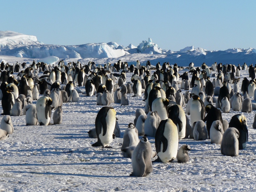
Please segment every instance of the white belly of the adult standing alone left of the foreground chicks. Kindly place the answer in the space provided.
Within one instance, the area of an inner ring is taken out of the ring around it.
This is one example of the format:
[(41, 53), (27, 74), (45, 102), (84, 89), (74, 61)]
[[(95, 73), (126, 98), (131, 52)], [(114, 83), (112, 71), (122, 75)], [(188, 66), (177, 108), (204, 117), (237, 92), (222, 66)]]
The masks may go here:
[(114, 111), (108, 110), (105, 120), (107, 122), (107, 132), (103, 136), (103, 128), (101, 126), (101, 132), (99, 134), (99, 138), (103, 147), (108, 146), (108, 144), (113, 141), (113, 133), (116, 126), (116, 114), (114, 113)]

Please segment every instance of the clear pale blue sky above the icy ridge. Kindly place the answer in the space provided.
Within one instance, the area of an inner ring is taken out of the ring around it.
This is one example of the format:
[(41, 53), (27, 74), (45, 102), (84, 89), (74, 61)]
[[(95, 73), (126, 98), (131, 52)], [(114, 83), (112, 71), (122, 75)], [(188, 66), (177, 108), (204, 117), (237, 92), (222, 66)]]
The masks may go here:
[(0, 30), (45, 44), (114, 41), (162, 49), (256, 48), (256, 1), (1, 0)]

